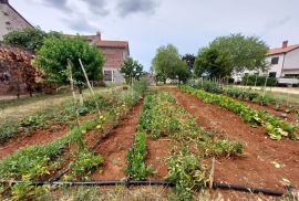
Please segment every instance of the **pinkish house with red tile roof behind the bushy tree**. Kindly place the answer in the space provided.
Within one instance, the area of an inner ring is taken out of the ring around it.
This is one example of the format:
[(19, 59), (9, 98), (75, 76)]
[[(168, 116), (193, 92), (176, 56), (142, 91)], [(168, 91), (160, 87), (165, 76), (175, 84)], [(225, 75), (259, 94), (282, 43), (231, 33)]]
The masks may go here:
[(105, 55), (105, 64), (103, 66), (104, 82), (123, 83), (124, 77), (120, 70), (124, 61), (130, 56), (128, 42), (102, 40), (100, 32), (96, 32), (95, 35), (85, 35), (84, 38), (91, 44), (96, 45)]

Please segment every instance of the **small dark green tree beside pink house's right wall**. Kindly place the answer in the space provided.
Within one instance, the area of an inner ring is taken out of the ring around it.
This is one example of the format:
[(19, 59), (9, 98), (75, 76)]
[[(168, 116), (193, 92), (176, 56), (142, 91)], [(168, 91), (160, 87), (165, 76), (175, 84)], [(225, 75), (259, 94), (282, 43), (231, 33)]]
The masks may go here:
[(143, 75), (143, 65), (138, 61), (128, 57), (124, 61), (121, 73), (124, 75), (125, 82), (132, 84), (133, 80), (140, 81)]

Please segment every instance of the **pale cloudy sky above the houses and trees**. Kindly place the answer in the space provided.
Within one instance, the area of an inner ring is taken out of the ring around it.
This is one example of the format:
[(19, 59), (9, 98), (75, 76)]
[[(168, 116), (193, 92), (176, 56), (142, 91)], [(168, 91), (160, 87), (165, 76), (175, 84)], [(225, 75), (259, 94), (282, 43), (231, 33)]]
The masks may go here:
[(125, 40), (131, 56), (150, 70), (156, 49), (169, 43), (197, 54), (215, 38), (256, 35), (270, 47), (299, 43), (298, 0), (10, 0), (45, 31)]

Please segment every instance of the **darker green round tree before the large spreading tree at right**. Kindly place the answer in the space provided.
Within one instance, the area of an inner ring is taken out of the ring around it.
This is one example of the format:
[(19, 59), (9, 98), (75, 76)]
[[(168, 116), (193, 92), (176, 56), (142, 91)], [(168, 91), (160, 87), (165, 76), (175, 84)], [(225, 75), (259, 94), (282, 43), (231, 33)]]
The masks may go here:
[(225, 77), (233, 72), (229, 52), (215, 47), (204, 47), (198, 51), (194, 64), (196, 76)]

